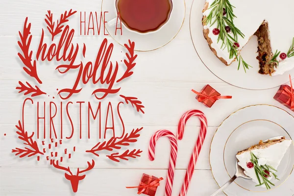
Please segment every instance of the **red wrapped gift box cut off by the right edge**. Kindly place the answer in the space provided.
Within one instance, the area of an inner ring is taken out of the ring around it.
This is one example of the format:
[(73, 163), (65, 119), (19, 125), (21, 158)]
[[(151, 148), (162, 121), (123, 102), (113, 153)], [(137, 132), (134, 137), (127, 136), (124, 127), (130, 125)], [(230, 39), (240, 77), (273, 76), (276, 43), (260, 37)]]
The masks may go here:
[(289, 78), (290, 86), (281, 85), (280, 89), (273, 98), (294, 111), (294, 90), (291, 75), (289, 75)]

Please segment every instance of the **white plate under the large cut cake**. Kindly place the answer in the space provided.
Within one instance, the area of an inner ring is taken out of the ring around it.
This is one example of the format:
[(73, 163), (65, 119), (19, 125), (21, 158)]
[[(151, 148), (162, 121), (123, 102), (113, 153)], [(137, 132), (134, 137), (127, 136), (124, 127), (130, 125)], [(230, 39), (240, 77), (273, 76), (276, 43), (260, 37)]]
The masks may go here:
[[(270, 0), (274, 1), (275, 0)], [(246, 62), (253, 68), (249, 68), (247, 73), (244, 72), (241, 65), (238, 71), (238, 62), (232, 63), (230, 66), (225, 66), (220, 59), (210, 50), (207, 41), (203, 36), (202, 26), (202, 10), (205, 4), (205, 0), (194, 0), (191, 15), (190, 15), (190, 31), (191, 37), (203, 64), (216, 76), (223, 81), (245, 89), (270, 89), (289, 81), (289, 74), (294, 75), (294, 69), (284, 73), (283, 75), (269, 76), (258, 73), (259, 63), (256, 59), (257, 56), (257, 38), (253, 36), (247, 45), (242, 49), (242, 56), (246, 59)], [(277, 20), (281, 20), (277, 18)]]

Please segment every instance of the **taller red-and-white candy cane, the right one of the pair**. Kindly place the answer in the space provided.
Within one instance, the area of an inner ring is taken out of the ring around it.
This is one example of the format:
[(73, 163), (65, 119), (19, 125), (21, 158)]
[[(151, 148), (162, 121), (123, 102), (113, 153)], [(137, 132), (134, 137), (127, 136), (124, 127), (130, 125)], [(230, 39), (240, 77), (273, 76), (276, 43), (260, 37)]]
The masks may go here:
[(196, 116), (199, 118), (200, 124), (201, 124), (200, 125), (200, 132), (199, 132), (199, 137), (197, 138), (197, 142), (195, 144), (195, 147), (193, 149), (192, 156), (190, 158), (190, 162), (188, 165), (186, 176), (185, 176), (185, 179), (184, 179), (179, 196), (186, 196), (186, 194), (187, 194), (187, 191), (188, 191), (188, 188), (190, 185), (190, 181), (193, 176), (194, 168), (195, 168), (195, 165), (197, 162), (197, 158), (199, 156), (201, 147), (203, 145), (203, 141), (205, 139), (206, 130), (207, 130), (207, 120), (206, 120), (205, 115), (199, 110), (189, 110), (188, 112), (183, 114), (183, 116), (181, 117), (181, 119), (179, 121), (178, 131), (177, 131), (177, 138), (179, 140), (181, 140), (183, 138), (185, 125), (186, 125), (188, 119), (192, 116)]

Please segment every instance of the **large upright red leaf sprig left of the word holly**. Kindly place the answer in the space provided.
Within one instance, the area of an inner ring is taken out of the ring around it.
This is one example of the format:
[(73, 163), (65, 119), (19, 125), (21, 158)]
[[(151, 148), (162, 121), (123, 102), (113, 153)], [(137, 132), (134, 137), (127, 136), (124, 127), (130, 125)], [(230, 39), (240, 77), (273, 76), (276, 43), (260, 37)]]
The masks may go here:
[(40, 80), (37, 74), (36, 60), (33, 61), (33, 64), (31, 63), (32, 53), (33, 53), (33, 51), (29, 50), (29, 46), (32, 40), (32, 35), (30, 34), (31, 24), (30, 23), (28, 25), (26, 24), (27, 24), (27, 17), (25, 18), (23, 34), (21, 33), (21, 31), (19, 31), (21, 41), (18, 41), (18, 45), (23, 51), (23, 54), (19, 52), (18, 56), (20, 57), (20, 59), (25, 65), (25, 67), (23, 68), (25, 70), (25, 73), (27, 73), (31, 77), (34, 77), (40, 84), (42, 84), (42, 81)]

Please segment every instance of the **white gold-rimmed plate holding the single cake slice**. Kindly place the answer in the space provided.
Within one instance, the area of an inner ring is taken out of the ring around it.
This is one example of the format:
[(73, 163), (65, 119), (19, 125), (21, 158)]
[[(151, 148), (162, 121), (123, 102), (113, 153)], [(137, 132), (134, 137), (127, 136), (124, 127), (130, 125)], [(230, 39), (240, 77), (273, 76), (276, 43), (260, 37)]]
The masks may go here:
[[(242, 108), (226, 118), (217, 129), (210, 146), (209, 162), (214, 179), (224, 185), (235, 174), (238, 151), (260, 140), (275, 136), (294, 138), (294, 117), (283, 109), (271, 105), (252, 105)], [(255, 187), (252, 180), (237, 178), (223, 192), (227, 196), (293, 196), (294, 145), (287, 150), (278, 167), (279, 180), (271, 180), (270, 190)]]

